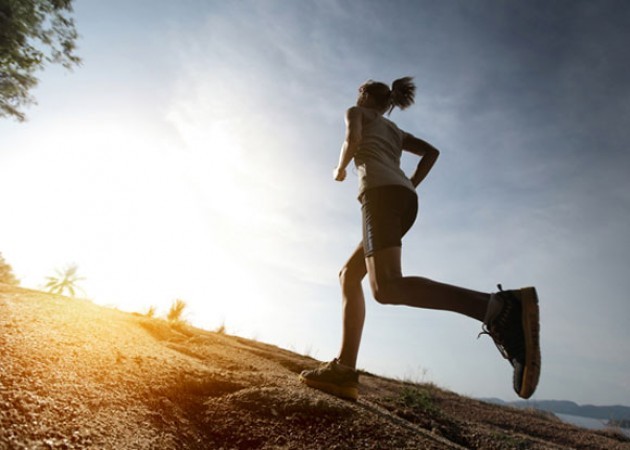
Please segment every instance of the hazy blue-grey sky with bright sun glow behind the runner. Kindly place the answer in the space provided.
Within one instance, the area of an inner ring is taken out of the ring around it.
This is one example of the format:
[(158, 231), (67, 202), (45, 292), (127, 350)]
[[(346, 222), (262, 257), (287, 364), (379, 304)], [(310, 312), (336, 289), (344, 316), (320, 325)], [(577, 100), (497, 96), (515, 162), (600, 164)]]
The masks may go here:
[[(630, 4), (620, 1), (75, 0), (83, 63), (39, 73), (0, 121), (0, 252), (22, 285), (76, 264), (95, 303), (320, 360), (361, 239), (335, 182), (367, 79), (413, 76), (392, 113), (440, 151), (403, 271), (483, 292), (536, 286), (536, 399), (630, 405)], [(403, 158), (410, 174), (417, 163)], [(384, 306), (358, 365), (516, 400), (481, 324)]]

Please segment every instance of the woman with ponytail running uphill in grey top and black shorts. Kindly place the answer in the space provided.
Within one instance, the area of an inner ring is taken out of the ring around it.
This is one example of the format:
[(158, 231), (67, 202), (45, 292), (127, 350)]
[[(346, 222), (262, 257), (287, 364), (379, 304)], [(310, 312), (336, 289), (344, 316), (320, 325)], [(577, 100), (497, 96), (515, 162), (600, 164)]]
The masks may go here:
[[(359, 88), (356, 106), (346, 111), (346, 136), (333, 176), (346, 178), (354, 160), (359, 179), (363, 242), (339, 273), (343, 300), (341, 350), (334, 360), (304, 371), (300, 380), (338, 397), (358, 398), (357, 355), (365, 320), (361, 281), (367, 275), (376, 301), (387, 305), (438, 309), (464, 314), (482, 323), (514, 369), (514, 390), (529, 398), (540, 375), (539, 314), (536, 289), (526, 287), (496, 293), (477, 292), (427, 278), (404, 276), (402, 237), (418, 212), (416, 188), (431, 171), (439, 151), (401, 130), (384, 117), (395, 107), (414, 102), (411, 77), (388, 85), (367, 81)], [(400, 168), (402, 151), (420, 157), (408, 178)]]

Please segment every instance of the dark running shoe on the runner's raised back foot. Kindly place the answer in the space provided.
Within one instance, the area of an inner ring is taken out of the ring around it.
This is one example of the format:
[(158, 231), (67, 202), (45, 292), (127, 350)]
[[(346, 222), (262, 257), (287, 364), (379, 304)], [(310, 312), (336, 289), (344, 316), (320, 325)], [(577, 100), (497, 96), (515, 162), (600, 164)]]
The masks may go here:
[[(483, 332), (514, 368), (514, 390), (532, 396), (540, 378), (540, 324), (538, 294), (533, 287), (492, 294)], [(480, 335), (481, 335), (480, 334)]]

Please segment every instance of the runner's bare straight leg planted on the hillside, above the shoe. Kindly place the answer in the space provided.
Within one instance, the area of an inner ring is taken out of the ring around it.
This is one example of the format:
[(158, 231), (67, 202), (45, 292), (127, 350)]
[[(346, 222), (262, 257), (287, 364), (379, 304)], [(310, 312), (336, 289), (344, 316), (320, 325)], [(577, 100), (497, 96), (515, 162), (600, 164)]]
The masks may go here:
[(342, 295), (343, 330), (339, 362), (355, 368), (365, 322), (365, 297), (361, 281), (367, 274), (363, 244), (359, 244), (339, 272)]

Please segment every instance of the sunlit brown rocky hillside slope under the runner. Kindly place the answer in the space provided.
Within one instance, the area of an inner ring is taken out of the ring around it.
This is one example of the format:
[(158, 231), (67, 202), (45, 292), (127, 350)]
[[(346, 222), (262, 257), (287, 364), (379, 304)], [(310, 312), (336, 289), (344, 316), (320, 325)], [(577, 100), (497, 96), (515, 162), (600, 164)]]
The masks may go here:
[(362, 375), (271, 345), (0, 284), (0, 449), (630, 449), (614, 430)]

